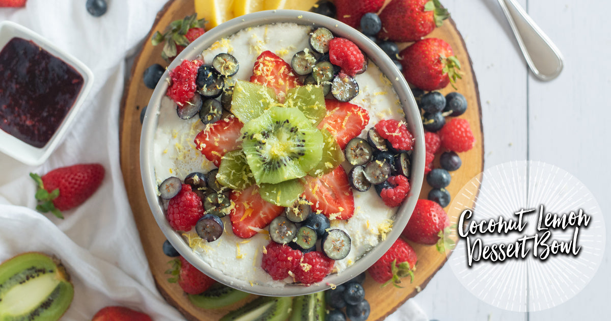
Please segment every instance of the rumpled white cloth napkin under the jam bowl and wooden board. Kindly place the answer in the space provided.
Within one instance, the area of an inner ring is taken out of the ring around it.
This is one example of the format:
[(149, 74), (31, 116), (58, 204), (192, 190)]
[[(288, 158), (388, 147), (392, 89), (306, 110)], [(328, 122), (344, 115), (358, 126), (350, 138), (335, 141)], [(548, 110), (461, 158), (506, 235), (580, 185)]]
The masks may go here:
[[(76, 292), (62, 320), (89, 320), (108, 305), (145, 311), (158, 321), (183, 320), (155, 288), (119, 166), (125, 60), (148, 41), (144, 37), (165, 2), (108, 0), (108, 12), (99, 18), (87, 13), (84, 0), (28, 0), (23, 9), (0, 9), (0, 21), (14, 21), (43, 35), (95, 75), (78, 120), (45, 164), (31, 168), (0, 154), (0, 262), (27, 251), (60, 257)], [(76, 163), (104, 166), (100, 189), (66, 212), (65, 220), (32, 210), (35, 185), (28, 173)], [(428, 318), (409, 300), (387, 320)]]

